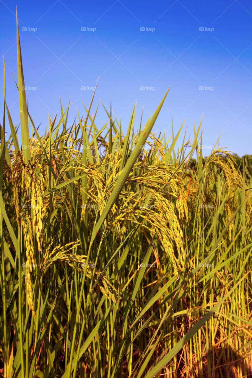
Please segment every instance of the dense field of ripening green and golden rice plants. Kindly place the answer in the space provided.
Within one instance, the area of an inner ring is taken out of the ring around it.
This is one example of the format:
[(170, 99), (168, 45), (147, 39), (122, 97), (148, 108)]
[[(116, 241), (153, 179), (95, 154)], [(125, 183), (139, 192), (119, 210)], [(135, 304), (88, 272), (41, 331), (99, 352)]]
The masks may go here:
[(181, 147), (184, 124), (154, 134), (169, 89), (138, 125), (134, 105), (126, 133), (101, 101), (97, 124), (94, 92), (40, 135), (18, 21), (17, 63), (20, 125), (5, 67), (1, 125), (1, 375), (252, 377), (251, 156), (218, 141), (203, 156), (201, 123)]

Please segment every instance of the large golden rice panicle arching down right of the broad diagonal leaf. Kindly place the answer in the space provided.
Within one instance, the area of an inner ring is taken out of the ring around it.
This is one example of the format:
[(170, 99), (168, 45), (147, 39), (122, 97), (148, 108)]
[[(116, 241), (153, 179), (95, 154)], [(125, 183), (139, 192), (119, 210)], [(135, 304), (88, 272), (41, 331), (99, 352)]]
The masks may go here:
[[(175, 209), (177, 209), (180, 219), (185, 214), (185, 218), (188, 220), (186, 190), (180, 172), (173, 175), (174, 167), (160, 162), (156, 165), (145, 166), (147, 169), (142, 174), (141, 164), (137, 163), (135, 167), (136, 174), (131, 172), (126, 180), (127, 187), (130, 188), (130, 185), (135, 182), (140, 188), (145, 187), (148, 190), (143, 191), (139, 198), (136, 198), (134, 192), (121, 192), (120, 198), (124, 206), (120, 206), (118, 209), (112, 208), (111, 212), (114, 216), (111, 217), (113, 220), (110, 221), (110, 225), (115, 227), (117, 234), (123, 239), (128, 222), (138, 223), (138, 217), (145, 219), (146, 222), (140, 221), (141, 226), (148, 228), (151, 234), (157, 232), (165, 252), (171, 258), (174, 274), (178, 277), (177, 269), (184, 267), (186, 256), (182, 241), (183, 232), (180, 229)], [(165, 189), (162, 189), (162, 186)], [(151, 200), (155, 201), (153, 205), (148, 206), (145, 201), (150, 192), (152, 193)], [(173, 199), (173, 204), (168, 198)]]

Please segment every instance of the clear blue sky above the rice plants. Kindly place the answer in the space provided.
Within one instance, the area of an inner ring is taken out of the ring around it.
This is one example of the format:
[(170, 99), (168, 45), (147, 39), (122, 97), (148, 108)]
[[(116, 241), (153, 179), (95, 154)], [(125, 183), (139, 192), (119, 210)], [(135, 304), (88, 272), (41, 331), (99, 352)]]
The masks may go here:
[[(29, 111), (36, 126), (41, 122), (41, 131), (48, 112), (51, 118), (59, 114), (60, 97), (64, 108), (71, 101), (69, 125), (76, 106), (82, 115), (81, 100), (89, 106), (93, 91), (87, 88), (99, 77), (92, 112), (99, 99), (107, 108), (111, 99), (124, 130), (135, 101), (138, 127), (142, 106), (146, 121), (171, 85), (154, 132), (167, 130), (170, 136), (173, 114), (174, 132), (186, 118), (189, 136), (193, 121), (197, 126), (204, 113), (204, 145), (212, 146), (222, 133), (220, 146), (241, 156), (252, 154), (252, 2), (0, 0), (6, 102), (18, 124), (18, 93), (11, 75), (17, 79), (16, 5), (25, 85), (37, 88), (26, 91)], [(3, 93), (2, 80), (0, 87)], [(0, 111), (2, 124), (3, 100)], [(97, 127), (106, 121), (100, 104)]]

